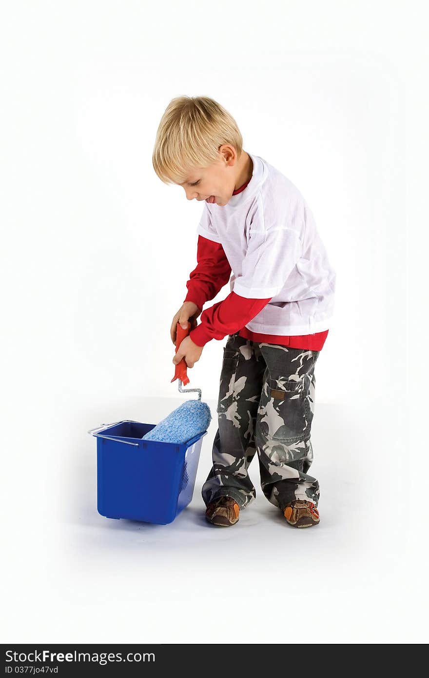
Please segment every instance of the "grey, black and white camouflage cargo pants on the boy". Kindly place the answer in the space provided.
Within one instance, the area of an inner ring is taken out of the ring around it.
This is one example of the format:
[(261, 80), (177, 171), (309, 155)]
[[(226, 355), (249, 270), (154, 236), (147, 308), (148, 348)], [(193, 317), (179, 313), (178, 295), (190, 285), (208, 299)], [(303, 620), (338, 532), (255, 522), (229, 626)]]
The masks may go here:
[(230, 334), (224, 347), (213, 467), (201, 494), (207, 506), (228, 495), (241, 509), (256, 498), (247, 468), (258, 452), (262, 492), (285, 508), (295, 499), (319, 503), (307, 471), (314, 414), (314, 363), (320, 351), (266, 344)]

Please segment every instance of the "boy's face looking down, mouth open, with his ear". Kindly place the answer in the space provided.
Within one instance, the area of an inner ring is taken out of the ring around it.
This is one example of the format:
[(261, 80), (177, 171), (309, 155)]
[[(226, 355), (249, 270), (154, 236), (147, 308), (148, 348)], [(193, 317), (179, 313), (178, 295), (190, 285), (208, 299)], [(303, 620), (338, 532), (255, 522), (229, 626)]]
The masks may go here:
[[(219, 159), (209, 167), (194, 167), (188, 170), (183, 186), (188, 200), (205, 200), (207, 203), (226, 205), (237, 176), (237, 151), (224, 144), (219, 149)], [(191, 185), (193, 184), (193, 185)]]

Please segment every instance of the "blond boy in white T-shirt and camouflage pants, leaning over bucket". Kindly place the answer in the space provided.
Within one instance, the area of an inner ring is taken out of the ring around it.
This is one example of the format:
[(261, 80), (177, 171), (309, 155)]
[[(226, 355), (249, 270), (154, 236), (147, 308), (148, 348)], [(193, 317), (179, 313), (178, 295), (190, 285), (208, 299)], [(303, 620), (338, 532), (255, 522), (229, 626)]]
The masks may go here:
[[(209, 340), (228, 335), (205, 517), (237, 523), (256, 497), (247, 468), (258, 452), (268, 501), (293, 527), (317, 525), (319, 482), (307, 473), (314, 363), (333, 315), (335, 271), (312, 212), (289, 179), (243, 150), (237, 123), (209, 97), (171, 100), (152, 163), (188, 200), (205, 201), (198, 264), (171, 323), (174, 344), (177, 322), (189, 320), (190, 334), (173, 363), (184, 357), (193, 367)], [(228, 297), (202, 313), (228, 281)]]

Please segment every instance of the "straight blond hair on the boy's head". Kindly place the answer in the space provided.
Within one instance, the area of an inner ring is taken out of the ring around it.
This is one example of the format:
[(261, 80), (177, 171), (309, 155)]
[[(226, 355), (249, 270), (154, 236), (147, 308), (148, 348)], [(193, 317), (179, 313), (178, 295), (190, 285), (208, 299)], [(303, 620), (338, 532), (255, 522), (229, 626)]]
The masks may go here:
[(232, 115), (208, 96), (177, 96), (159, 123), (152, 165), (165, 184), (183, 184), (190, 170), (219, 159), (222, 144), (240, 157), (243, 138)]

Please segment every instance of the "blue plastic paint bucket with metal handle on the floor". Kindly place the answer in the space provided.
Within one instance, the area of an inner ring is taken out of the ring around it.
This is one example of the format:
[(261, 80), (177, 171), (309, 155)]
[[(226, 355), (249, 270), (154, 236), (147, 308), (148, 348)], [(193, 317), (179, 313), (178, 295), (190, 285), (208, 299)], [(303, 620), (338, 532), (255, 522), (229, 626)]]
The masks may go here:
[(182, 445), (142, 440), (155, 425), (127, 419), (88, 431), (97, 437), (100, 515), (167, 525), (192, 500), (207, 431)]

